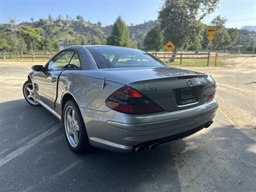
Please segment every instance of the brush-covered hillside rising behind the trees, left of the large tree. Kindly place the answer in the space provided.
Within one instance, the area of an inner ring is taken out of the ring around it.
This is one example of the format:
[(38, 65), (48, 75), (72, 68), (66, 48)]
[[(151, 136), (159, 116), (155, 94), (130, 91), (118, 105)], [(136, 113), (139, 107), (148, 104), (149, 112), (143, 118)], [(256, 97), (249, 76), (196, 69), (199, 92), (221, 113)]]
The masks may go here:
[[(135, 47), (141, 48), (143, 46), (143, 40), (147, 32), (156, 26), (157, 21), (147, 21), (143, 24), (130, 25), (129, 32), (132, 42)], [(31, 26), (33, 28), (44, 29), (44, 36), (50, 38), (52, 41), (54, 38), (65, 40), (66, 45), (72, 45), (74, 42), (77, 44), (77, 39), (86, 38), (87, 44), (91, 44), (93, 39), (97, 38), (97, 44), (106, 44), (106, 38), (111, 35), (113, 25), (101, 26), (98, 22), (93, 24), (92, 22), (86, 22), (82, 20), (66, 20), (56, 19), (47, 20), (39, 19), (35, 22), (22, 22), (17, 25), (11, 26), (10, 24), (0, 24), (0, 33), (10, 36), (12, 31), (19, 31), (21, 26)], [(0, 34), (1, 35), (1, 34)]]

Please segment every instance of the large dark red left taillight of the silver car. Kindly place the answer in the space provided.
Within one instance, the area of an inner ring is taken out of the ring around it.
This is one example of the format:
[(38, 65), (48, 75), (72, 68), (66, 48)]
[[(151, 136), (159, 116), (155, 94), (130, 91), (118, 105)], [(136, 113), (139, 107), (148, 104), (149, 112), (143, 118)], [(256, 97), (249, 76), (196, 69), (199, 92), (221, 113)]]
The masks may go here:
[(150, 99), (129, 86), (123, 86), (112, 93), (106, 100), (106, 105), (118, 112), (129, 114), (145, 114), (164, 111)]

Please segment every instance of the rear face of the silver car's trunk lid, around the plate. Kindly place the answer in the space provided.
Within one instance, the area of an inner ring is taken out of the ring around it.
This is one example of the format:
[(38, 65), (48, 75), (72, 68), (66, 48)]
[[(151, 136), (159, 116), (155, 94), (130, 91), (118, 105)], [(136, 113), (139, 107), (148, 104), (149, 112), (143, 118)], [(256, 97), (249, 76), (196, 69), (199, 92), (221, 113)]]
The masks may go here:
[(204, 104), (214, 89), (215, 82), (211, 76), (198, 74), (183, 77), (185, 78), (137, 81), (129, 86), (156, 102), (164, 111), (177, 111)]

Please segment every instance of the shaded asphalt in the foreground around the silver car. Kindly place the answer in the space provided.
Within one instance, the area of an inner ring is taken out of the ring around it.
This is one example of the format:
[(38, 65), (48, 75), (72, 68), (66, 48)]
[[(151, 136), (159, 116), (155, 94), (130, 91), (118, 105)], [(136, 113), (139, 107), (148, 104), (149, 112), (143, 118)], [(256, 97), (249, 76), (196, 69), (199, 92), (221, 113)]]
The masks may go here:
[[(2, 102), (0, 108), (0, 149), (8, 149), (0, 162), (61, 125), (23, 99)], [(255, 140), (221, 115), (193, 136), (139, 153), (97, 149), (77, 155), (60, 128), (0, 166), (0, 191), (253, 191), (253, 146)]]

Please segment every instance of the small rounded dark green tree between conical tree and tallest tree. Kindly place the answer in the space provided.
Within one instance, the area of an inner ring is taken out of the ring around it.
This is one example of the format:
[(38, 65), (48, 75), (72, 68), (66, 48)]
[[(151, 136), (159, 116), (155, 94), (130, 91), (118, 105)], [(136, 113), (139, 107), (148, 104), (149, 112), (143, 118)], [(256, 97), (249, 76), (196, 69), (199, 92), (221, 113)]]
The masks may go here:
[(143, 47), (145, 51), (159, 51), (163, 47), (163, 33), (159, 25), (148, 31)]

